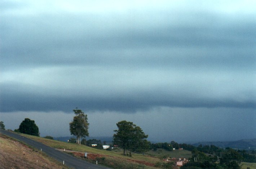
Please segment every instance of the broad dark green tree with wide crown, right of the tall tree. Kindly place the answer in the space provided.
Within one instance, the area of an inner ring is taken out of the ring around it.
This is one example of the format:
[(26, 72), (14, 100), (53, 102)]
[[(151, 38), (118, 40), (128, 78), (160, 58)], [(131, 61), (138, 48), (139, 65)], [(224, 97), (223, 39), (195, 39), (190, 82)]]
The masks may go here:
[(148, 136), (133, 122), (120, 121), (116, 126), (118, 130), (114, 130), (113, 144), (124, 149), (124, 155), (127, 150), (144, 152), (149, 149), (149, 142), (145, 140)]

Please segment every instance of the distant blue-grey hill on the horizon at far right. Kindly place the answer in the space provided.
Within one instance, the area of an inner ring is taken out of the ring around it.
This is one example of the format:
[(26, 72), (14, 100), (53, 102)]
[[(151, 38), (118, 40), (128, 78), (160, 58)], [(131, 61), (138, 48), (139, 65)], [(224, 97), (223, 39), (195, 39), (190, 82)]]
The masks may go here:
[(256, 150), (256, 139), (246, 139), (246, 140), (238, 140), (238, 141), (208, 141), (208, 142), (198, 142), (192, 144), (193, 146), (198, 145), (215, 145), (225, 149), (226, 147), (230, 147), (233, 149), (240, 149), (240, 150)]

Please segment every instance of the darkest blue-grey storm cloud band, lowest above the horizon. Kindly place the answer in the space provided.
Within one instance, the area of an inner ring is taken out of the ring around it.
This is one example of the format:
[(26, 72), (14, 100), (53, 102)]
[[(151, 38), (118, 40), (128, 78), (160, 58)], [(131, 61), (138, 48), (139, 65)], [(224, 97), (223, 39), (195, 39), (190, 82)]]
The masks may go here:
[[(29, 88), (30, 90), (28, 90)], [(67, 111), (71, 107), (79, 107), (86, 111), (120, 111), (136, 112), (145, 111), (152, 107), (231, 107), (231, 108), (256, 108), (255, 97), (252, 100), (238, 101), (231, 98), (200, 98), (189, 93), (172, 91), (166, 93), (165, 89), (151, 89), (150, 92), (138, 89), (130, 91), (128, 95), (69, 95), (59, 92), (58, 95), (49, 93), (46, 89), (37, 86), (20, 86), (12, 84), (1, 85), (1, 111)], [(53, 91), (54, 92), (54, 91)]]

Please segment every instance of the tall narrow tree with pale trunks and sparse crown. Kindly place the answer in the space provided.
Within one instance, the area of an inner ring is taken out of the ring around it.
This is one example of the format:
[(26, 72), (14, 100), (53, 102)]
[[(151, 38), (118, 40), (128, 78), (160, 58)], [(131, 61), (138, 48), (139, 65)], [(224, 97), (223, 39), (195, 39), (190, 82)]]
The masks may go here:
[(88, 133), (88, 118), (81, 110), (73, 110), (75, 115), (73, 121), (69, 123), (69, 130), (71, 135), (76, 136), (76, 143), (81, 144), (81, 138), (89, 136)]

